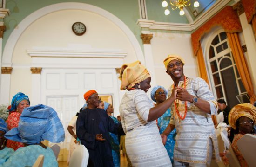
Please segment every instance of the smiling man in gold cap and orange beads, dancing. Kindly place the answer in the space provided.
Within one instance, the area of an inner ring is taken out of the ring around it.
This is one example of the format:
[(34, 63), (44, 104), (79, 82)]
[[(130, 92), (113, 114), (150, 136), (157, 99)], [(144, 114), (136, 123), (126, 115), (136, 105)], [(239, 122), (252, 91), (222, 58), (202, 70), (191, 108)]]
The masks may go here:
[(174, 167), (207, 167), (213, 151), (219, 161), (219, 151), (211, 115), (217, 113), (217, 102), (208, 84), (199, 77), (185, 77), (185, 61), (178, 55), (169, 55), (164, 60), (166, 73), (174, 84), (168, 96), (179, 87), (171, 105), (169, 126), (163, 132), (168, 135), (175, 127), (177, 131), (174, 148)]

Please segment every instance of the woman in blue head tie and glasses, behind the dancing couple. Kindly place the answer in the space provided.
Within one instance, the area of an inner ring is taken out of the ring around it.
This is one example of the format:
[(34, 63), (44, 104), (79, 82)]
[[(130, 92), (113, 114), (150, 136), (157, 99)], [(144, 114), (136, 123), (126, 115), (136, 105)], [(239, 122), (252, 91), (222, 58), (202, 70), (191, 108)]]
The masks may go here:
[[(151, 91), (151, 99), (156, 102), (155, 106), (159, 105), (163, 101), (166, 100), (167, 96), (167, 90), (162, 86), (155, 86)], [(165, 128), (168, 126), (169, 121), (171, 118), (171, 110), (170, 108), (167, 109), (167, 111), (157, 119), (157, 125), (160, 127), (160, 134), (165, 130)], [(168, 136), (167, 141), (165, 144), (165, 148), (168, 152), (168, 155), (173, 163), (173, 150), (175, 146), (175, 135), (176, 130), (174, 129)]]

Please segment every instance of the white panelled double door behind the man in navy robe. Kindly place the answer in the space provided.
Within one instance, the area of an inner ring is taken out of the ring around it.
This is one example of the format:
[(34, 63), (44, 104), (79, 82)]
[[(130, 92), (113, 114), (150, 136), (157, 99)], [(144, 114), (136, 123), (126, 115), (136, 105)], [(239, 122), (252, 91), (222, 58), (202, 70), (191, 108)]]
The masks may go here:
[[(99, 95), (110, 95), (116, 109), (119, 106), (119, 86), (115, 69), (43, 69), (41, 72), (41, 103), (55, 109), (65, 130), (60, 143), (58, 161), (67, 161), (71, 135), (67, 126), (85, 104), (83, 94), (94, 89)], [(115, 115), (119, 115), (115, 110)], [(72, 141), (71, 141), (72, 142)], [(48, 143), (51, 146), (53, 143)]]

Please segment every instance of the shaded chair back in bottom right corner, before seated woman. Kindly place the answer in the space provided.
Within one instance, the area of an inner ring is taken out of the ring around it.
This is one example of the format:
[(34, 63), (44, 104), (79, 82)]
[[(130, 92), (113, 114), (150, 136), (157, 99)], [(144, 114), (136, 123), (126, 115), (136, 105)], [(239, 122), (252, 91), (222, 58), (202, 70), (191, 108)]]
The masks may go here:
[(244, 135), (237, 141), (237, 146), (249, 167), (255, 167), (256, 136), (252, 134)]

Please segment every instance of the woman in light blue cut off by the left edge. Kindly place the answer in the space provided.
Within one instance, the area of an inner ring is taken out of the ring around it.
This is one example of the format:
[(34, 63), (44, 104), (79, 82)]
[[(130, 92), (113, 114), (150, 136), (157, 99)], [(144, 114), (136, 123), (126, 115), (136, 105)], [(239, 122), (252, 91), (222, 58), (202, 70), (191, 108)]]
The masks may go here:
[(13, 148), (7, 148), (5, 133), (8, 131), (6, 122), (0, 118), (0, 165), (3, 164), (14, 153)]

